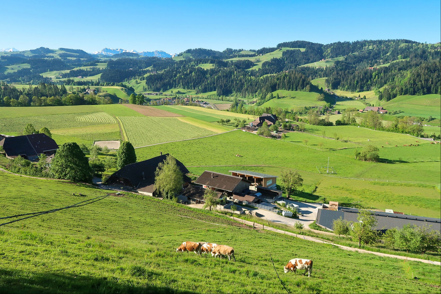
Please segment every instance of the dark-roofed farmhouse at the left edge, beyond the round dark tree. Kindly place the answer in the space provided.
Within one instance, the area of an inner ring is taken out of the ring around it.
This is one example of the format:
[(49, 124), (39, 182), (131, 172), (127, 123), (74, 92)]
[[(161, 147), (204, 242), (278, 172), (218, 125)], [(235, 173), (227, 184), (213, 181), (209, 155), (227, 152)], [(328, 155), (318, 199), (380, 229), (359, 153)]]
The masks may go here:
[(50, 157), (58, 149), (55, 140), (45, 134), (15, 137), (0, 135), (0, 146), (3, 146), (7, 158), (22, 156), (27, 160), (36, 160), (41, 154)]

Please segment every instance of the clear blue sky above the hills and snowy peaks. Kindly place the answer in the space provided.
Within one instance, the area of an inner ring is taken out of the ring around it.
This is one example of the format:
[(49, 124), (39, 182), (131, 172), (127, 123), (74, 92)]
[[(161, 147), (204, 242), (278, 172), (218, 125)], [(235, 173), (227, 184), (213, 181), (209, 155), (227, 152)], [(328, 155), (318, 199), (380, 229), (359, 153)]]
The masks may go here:
[(441, 1), (1, 1), (0, 49), (259, 49), (284, 41), (441, 41)]

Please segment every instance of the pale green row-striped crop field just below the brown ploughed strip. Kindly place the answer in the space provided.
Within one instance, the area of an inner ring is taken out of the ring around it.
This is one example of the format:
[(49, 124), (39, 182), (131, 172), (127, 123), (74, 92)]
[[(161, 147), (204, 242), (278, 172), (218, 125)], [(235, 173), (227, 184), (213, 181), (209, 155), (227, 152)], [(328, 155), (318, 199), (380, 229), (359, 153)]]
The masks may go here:
[(172, 117), (121, 116), (118, 119), (123, 123), (128, 140), (135, 147), (214, 134)]

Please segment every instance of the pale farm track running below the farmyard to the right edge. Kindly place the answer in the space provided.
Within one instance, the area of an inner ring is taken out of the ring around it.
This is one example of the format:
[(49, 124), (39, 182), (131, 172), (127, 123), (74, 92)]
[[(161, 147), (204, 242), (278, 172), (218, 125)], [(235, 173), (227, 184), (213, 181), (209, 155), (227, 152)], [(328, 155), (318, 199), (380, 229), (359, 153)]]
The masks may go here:
[[(233, 218), (233, 216), (230, 216), (230, 218)], [(239, 222), (242, 222), (242, 223), (245, 223), (245, 224), (250, 225), (250, 226), (253, 225), (253, 222), (250, 222), (248, 220), (240, 220), (240, 219), (237, 219), (237, 218), (235, 220), (237, 220)], [(305, 236), (305, 235), (300, 235), (300, 234), (294, 234), (294, 233), (291, 233), (291, 232), (282, 231), (282, 230), (279, 230), (279, 229), (274, 229), (272, 227), (266, 227), (266, 226), (263, 226), (263, 225), (258, 224), (258, 223), (254, 223), (254, 227), (255, 228), (263, 228), (265, 230), (277, 232), (277, 233), (280, 233), (280, 234), (287, 234), (287, 235), (290, 235), (290, 236), (293, 236), (293, 237), (301, 238), (301, 239), (312, 241), (312, 242), (324, 243), (324, 244), (329, 244), (329, 245), (332, 245), (332, 246), (337, 246), (337, 247), (339, 247), (341, 249), (348, 250), (348, 251), (359, 252), (359, 253), (371, 253), (371, 254), (375, 254), (375, 255), (378, 255), (378, 256), (382, 256), (382, 257), (392, 257), (392, 258), (404, 259), (404, 260), (409, 260), (409, 261), (424, 262), (426, 264), (441, 265), (441, 262), (439, 262), (439, 261), (428, 261), (428, 260), (421, 259), (421, 258), (405, 257), (405, 256), (400, 256), (400, 255), (380, 253), (380, 252), (368, 251), (368, 250), (365, 250), (365, 249), (359, 249), (359, 248), (353, 248), (353, 247), (338, 245), (338, 244), (334, 244), (334, 243), (331, 243), (331, 242), (323, 241), (323, 240), (318, 239), (318, 238), (314, 238), (314, 237), (310, 237), (310, 236)]]

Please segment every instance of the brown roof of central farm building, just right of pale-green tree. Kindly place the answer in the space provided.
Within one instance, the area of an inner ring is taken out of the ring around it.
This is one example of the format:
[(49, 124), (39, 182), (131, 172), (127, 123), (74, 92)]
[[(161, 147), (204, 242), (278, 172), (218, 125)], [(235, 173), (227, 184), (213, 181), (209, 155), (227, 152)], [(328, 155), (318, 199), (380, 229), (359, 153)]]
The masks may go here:
[(241, 177), (224, 175), (214, 171), (204, 171), (194, 183), (202, 185), (204, 189), (211, 189), (228, 195), (247, 190), (251, 184)]

